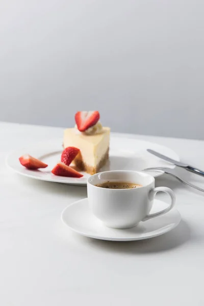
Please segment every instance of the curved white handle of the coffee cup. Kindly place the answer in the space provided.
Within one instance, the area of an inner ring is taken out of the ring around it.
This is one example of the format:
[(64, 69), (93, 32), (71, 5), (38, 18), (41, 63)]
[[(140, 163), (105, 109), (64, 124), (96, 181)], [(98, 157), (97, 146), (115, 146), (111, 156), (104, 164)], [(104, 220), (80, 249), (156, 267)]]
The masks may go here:
[(162, 192), (165, 192), (167, 194), (170, 195), (170, 198), (171, 198), (171, 203), (169, 205), (169, 207), (163, 209), (162, 211), (160, 212), (157, 212), (157, 213), (154, 213), (154, 214), (148, 214), (142, 221), (146, 221), (146, 220), (149, 220), (151, 218), (155, 218), (155, 217), (158, 217), (158, 216), (161, 216), (161, 215), (164, 215), (166, 213), (168, 213), (175, 205), (175, 194), (173, 192), (173, 190), (171, 190), (170, 188), (168, 187), (157, 187), (157, 188), (154, 188), (154, 189), (151, 189), (149, 191), (149, 198), (152, 200), (155, 198), (156, 194), (159, 192), (159, 191), (162, 191)]

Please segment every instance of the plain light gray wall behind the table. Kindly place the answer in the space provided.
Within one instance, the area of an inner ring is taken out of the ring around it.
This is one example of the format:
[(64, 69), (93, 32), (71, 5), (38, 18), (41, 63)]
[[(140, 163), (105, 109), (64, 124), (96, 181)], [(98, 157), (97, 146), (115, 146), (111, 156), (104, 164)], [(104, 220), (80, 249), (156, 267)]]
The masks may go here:
[(0, 120), (204, 139), (202, 0), (1, 0)]

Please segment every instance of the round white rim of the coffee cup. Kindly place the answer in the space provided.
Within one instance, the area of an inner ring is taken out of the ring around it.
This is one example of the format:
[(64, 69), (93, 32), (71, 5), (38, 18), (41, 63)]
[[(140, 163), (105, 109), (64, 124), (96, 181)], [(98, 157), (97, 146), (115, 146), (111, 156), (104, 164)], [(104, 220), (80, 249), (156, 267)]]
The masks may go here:
[[(145, 185), (145, 186), (142, 186), (140, 188), (133, 188), (133, 189), (105, 189), (103, 187), (99, 187), (99, 186), (95, 186), (94, 184), (90, 183), (90, 180), (93, 179), (93, 176), (97, 176), (97, 175), (100, 175), (101, 173), (113, 173), (113, 172), (131, 172), (131, 173), (138, 173), (138, 174), (142, 174), (142, 176), (147, 176), (147, 177), (150, 177), (152, 179), (152, 181)], [(135, 170), (108, 170), (108, 171), (101, 171), (101, 172), (98, 172), (98, 173), (95, 173), (95, 174), (92, 174), (91, 176), (88, 177), (87, 179), (87, 184), (95, 187), (95, 188), (100, 188), (100, 189), (103, 189), (103, 190), (109, 190), (109, 191), (127, 191), (127, 190), (139, 190), (139, 189), (143, 189), (143, 188), (146, 188), (148, 187), (149, 185), (151, 185), (152, 183), (155, 182), (155, 177), (148, 174), (148, 173), (145, 173), (145, 172), (142, 172), (142, 171), (135, 171)]]

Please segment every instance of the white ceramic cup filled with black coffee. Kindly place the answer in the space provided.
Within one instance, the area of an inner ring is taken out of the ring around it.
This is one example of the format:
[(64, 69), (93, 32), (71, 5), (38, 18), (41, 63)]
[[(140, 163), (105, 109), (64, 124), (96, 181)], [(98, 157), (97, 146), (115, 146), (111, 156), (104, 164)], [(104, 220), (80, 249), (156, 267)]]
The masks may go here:
[[(120, 181), (142, 185), (132, 189), (108, 189), (96, 185), (107, 181)], [(108, 227), (130, 228), (166, 214), (175, 205), (174, 192), (167, 187), (155, 188), (155, 178), (137, 171), (106, 171), (91, 175), (87, 180), (89, 207), (93, 214)], [(162, 191), (170, 195), (170, 205), (157, 213), (149, 214), (155, 195)]]

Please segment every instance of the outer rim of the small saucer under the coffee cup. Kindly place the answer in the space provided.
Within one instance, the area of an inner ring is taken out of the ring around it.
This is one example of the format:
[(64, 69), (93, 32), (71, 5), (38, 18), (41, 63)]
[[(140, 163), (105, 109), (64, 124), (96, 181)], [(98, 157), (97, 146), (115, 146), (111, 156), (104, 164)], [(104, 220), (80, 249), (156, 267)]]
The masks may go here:
[[(72, 232), (77, 233), (77, 234), (79, 234), (81, 236), (84, 236), (84, 237), (92, 238), (92, 239), (106, 240), (106, 241), (138, 241), (138, 240), (151, 239), (151, 238), (159, 237), (161, 235), (164, 235), (164, 234), (172, 231), (177, 225), (179, 225), (179, 223), (182, 220), (182, 217), (181, 217), (181, 214), (180, 214), (179, 210), (177, 210), (177, 208), (174, 207), (172, 210), (177, 214), (177, 220), (176, 220), (175, 223), (173, 223), (173, 225), (171, 227), (167, 227), (162, 233), (154, 234), (154, 235), (151, 235), (149, 237), (147, 236), (147, 237), (139, 237), (139, 238), (110, 238), (110, 237), (97, 237), (97, 236), (94, 236), (94, 235), (86, 235), (86, 234), (81, 233), (78, 230), (75, 230), (73, 227), (68, 225), (65, 222), (64, 217), (63, 217), (64, 213), (66, 212), (67, 209), (69, 209), (69, 207), (74, 206), (78, 202), (83, 202), (85, 200), (88, 200), (88, 197), (70, 203), (67, 207), (65, 207), (62, 210), (60, 218), (61, 218), (61, 221), (63, 222), (63, 224), (65, 224)], [(164, 203), (164, 201), (162, 201), (162, 200), (159, 200), (159, 199), (155, 199), (155, 200), (158, 201), (158, 202)]]

